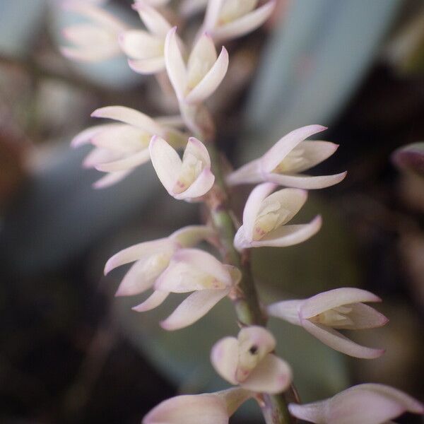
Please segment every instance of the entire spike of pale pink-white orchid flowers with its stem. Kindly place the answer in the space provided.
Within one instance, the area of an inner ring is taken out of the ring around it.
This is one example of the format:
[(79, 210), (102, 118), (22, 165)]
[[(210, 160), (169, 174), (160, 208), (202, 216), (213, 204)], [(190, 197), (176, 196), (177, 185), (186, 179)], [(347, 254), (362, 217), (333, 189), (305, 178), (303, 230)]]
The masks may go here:
[[(146, 300), (133, 308), (137, 312), (158, 307), (171, 293), (189, 293), (160, 323), (166, 330), (193, 324), (225, 297), (235, 305), (243, 305), (238, 308), (241, 312), (237, 318), (242, 328), (237, 337), (221, 339), (211, 351), (216, 372), (238, 387), (169, 399), (153, 408), (143, 423), (226, 424), (247, 399), (257, 399), (263, 407), (265, 396), (288, 390), (293, 383), (290, 365), (276, 355), (276, 340), (261, 325), (264, 322), (261, 319), (254, 322), (253, 314), (244, 314), (249, 308), (252, 312), (256, 307), (257, 315), (268, 314), (302, 326), (326, 345), (347, 355), (368, 359), (382, 355), (382, 349), (360, 346), (338, 331), (386, 324), (384, 315), (365, 305), (365, 302), (380, 301), (370, 292), (338, 288), (309, 299), (283, 300), (262, 308), (254, 295), (249, 294), (252, 298), (247, 302), (248, 295), (243, 291), (252, 278), (246, 279), (250, 271), (240, 254), (255, 247), (296, 245), (315, 235), (322, 225), (319, 215), (306, 224), (293, 224), (291, 220), (307, 201), (308, 189), (330, 187), (346, 176), (346, 172), (324, 176), (303, 174), (329, 158), (338, 147), (328, 141), (307, 140), (326, 129), (320, 125), (291, 131), (261, 158), (227, 175), (220, 170), (219, 155), (214, 154), (211, 160), (211, 149), (216, 153), (208, 140), (213, 120), (205, 102), (222, 83), (229, 64), (225, 47), (218, 54), (216, 45), (258, 28), (271, 15), (276, 1), (261, 4), (258, 0), (198, 0), (190, 4), (183, 1), (180, 10), (185, 12), (181, 20), (206, 9), (192, 48), (187, 47), (177, 27), (164, 17), (167, 0), (134, 2), (134, 11), (139, 13), (145, 29), (128, 28), (107, 13), (102, 3), (81, 0), (64, 3), (66, 8), (88, 20), (65, 28), (64, 35), (73, 45), (64, 47), (64, 54), (72, 59), (98, 61), (123, 52), (137, 73), (161, 73), (167, 78), (175, 91), (180, 113), (177, 119), (153, 119), (128, 107), (102, 107), (92, 116), (113, 122), (82, 131), (72, 145), (93, 145), (83, 165), (106, 172), (95, 187), (117, 183), (139, 165), (151, 161), (170, 196), (184, 201), (205, 201), (210, 214), (208, 225), (189, 225), (169, 237), (140, 242), (114, 254), (105, 265), (105, 274), (134, 262), (122, 279), (117, 296), (150, 291)], [(166, 16), (172, 20), (174, 15), (166, 13)], [(216, 169), (218, 173), (214, 175)], [(258, 183), (245, 204), (242, 225), (234, 228), (233, 214), (225, 203), (230, 188)], [(198, 246), (201, 242), (207, 242), (208, 247), (201, 249)], [(222, 259), (218, 259), (218, 253)], [(288, 410), (292, 416), (312, 423), (379, 424), (404, 411), (423, 413), (423, 406), (396, 389), (361, 384), (325, 401), (290, 404)]]

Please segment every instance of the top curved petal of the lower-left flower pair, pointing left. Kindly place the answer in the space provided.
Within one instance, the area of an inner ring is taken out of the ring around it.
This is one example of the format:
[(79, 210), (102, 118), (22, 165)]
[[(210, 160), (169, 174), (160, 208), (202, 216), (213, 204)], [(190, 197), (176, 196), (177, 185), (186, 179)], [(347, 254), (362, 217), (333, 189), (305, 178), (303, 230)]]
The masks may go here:
[(171, 253), (175, 249), (175, 243), (167, 237), (149, 242), (138, 243), (114, 254), (105, 264), (105, 275), (118, 266), (129, 264), (143, 257), (150, 257), (153, 254)]

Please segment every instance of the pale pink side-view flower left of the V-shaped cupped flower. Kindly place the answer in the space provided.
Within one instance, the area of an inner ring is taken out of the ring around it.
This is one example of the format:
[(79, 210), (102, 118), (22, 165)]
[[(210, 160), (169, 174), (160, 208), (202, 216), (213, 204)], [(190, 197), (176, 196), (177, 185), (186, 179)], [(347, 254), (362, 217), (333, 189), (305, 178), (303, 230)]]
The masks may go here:
[(83, 165), (107, 172), (105, 177), (95, 182), (95, 188), (109, 187), (124, 179), (137, 166), (148, 162), (148, 144), (153, 135), (165, 137), (175, 147), (181, 147), (182, 141), (185, 141), (185, 136), (163, 119), (152, 119), (129, 107), (102, 107), (91, 116), (120, 122), (90, 126), (71, 141), (73, 147), (93, 144), (94, 149), (88, 153)]

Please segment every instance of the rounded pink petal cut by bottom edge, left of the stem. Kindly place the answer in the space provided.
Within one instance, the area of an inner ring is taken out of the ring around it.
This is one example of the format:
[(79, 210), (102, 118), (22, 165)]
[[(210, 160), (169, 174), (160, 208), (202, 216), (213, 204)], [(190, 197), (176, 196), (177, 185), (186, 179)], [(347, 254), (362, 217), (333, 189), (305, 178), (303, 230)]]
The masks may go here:
[(214, 394), (185, 394), (163, 401), (142, 424), (228, 424), (225, 401)]

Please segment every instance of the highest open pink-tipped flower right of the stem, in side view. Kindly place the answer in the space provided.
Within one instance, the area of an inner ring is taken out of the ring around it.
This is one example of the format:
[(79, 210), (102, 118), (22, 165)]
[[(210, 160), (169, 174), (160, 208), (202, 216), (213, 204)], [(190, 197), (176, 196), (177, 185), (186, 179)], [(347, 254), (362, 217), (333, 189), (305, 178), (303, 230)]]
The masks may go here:
[(338, 148), (329, 141), (305, 141), (325, 126), (310, 125), (295, 129), (280, 139), (261, 158), (240, 167), (227, 177), (230, 185), (269, 181), (298, 189), (323, 189), (341, 182), (346, 172), (311, 177), (300, 172), (329, 158)]

